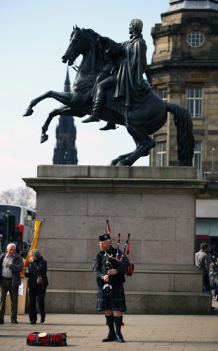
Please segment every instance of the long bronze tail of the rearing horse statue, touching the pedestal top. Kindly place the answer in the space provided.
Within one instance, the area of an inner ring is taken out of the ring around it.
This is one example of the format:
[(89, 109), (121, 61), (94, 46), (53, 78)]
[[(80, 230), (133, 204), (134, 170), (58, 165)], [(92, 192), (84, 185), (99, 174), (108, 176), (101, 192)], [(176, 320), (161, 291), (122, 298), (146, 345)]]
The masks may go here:
[(179, 166), (192, 166), (195, 140), (192, 133), (192, 120), (189, 111), (184, 107), (165, 102), (167, 111), (173, 115), (177, 127), (177, 156)]

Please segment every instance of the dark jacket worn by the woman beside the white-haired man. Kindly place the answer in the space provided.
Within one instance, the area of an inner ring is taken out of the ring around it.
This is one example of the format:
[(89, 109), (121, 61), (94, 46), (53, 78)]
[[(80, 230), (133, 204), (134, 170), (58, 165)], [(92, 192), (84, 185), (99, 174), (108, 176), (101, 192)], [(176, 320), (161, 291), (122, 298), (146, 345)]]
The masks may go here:
[(28, 279), (28, 285), (29, 288), (34, 288), (37, 286), (37, 267), (39, 269), (39, 273), (41, 274), (41, 277), (43, 279), (44, 285), (47, 286), (48, 285), (48, 278), (46, 275), (47, 272), (47, 262), (46, 260), (43, 259), (43, 257), (41, 256), (40, 258), (38, 258), (38, 260), (35, 260), (32, 263), (29, 263), (29, 273), (27, 273), (25, 271), (25, 277), (29, 278)]

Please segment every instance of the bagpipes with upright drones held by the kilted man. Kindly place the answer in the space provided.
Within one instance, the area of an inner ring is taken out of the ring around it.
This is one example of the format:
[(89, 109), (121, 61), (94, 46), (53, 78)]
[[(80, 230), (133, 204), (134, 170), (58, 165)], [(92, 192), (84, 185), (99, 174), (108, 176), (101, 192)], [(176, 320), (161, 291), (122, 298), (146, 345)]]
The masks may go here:
[[(109, 236), (111, 236), (111, 227), (109, 225), (109, 220), (106, 220), (107, 223), (107, 234), (109, 234)], [(123, 262), (125, 253), (126, 255), (129, 254), (130, 251), (130, 233), (128, 234), (128, 236), (123, 236), (123, 237), (127, 237), (126, 241), (125, 241), (125, 247), (122, 253), (121, 258), (119, 258), (119, 249), (120, 249), (120, 243), (121, 243), (121, 233), (118, 233), (118, 240), (117, 240), (117, 249), (116, 249), (116, 257), (113, 257), (113, 255), (109, 255), (106, 251), (105, 253), (107, 254), (107, 267), (108, 269), (114, 268), (116, 269), (116, 267), (118, 267), (119, 265), (121, 265), (121, 263)], [(113, 239), (116, 239), (113, 238)], [(112, 242), (111, 242), (111, 247), (112, 247)], [(110, 250), (110, 252), (112, 252), (112, 250)], [(133, 263), (130, 263), (130, 265), (128, 265), (128, 267), (125, 268), (125, 270), (119, 274), (125, 274), (128, 276), (131, 276), (132, 273), (134, 272), (134, 268), (135, 266), (133, 265)]]

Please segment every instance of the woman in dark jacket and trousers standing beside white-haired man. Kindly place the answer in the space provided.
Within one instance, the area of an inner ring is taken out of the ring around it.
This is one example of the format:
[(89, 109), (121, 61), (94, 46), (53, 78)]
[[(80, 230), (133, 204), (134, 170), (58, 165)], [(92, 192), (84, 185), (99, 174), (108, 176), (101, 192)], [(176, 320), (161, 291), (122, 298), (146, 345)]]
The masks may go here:
[[(39, 274), (43, 278), (43, 290), (37, 289), (37, 269)], [(46, 312), (45, 312), (45, 296), (46, 289), (48, 286), (47, 272), (47, 262), (41, 256), (39, 250), (34, 249), (30, 251), (29, 267), (25, 270), (25, 277), (28, 279), (29, 286), (29, 320), (30, 324), (36, 324), (37, 311), (36, 311), (36, 298), (39, 305), (39, 311), (41, 314), (41, 323), (45, 322)]]

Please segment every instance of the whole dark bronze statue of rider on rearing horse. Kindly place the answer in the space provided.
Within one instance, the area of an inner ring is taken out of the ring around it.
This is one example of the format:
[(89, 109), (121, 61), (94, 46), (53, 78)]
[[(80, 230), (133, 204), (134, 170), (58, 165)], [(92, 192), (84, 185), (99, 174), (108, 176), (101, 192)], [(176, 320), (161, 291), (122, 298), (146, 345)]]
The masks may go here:
[[(41, 143), (48, 140), (48, 126), (57, 115), (85, 117), (83, 122), (104, 120), (102, 130), (125, 126), (136, 148), (116, 157), (111, 166), (132, 166), (140, 157), (148, 156), (156, 143), (150, 135), (163, 127), (172, 113), (177, 128), (177, 157), (180, 166), (192, 166), (194, 139), (189, 112), (177, 104), (166, 102), (152, 91), (147, 74), (147, 46), (142, 37), (142, 21), (130, 22), (130, 40), (121, 44), (101, 37), (93, 29), (75, 27), (62, 62), (73, 66), (76, 79), (70, 92), (48, 91), (32, 100), (24, 116), (33, 113), (32, 107), (46, 98), (63, 104), (48, 114), (42, 127)], [(76, 58), (82, 55), (76, 68)]]

